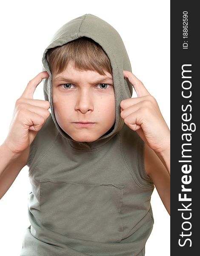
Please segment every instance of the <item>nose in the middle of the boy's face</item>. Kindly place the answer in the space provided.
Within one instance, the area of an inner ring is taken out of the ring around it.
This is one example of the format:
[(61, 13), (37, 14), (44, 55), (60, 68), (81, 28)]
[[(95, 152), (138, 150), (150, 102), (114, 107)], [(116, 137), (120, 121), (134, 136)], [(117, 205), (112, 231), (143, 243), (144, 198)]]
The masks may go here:
[(94, 110), (93, 97), (89, 90), (82, 90), (77, 96), (75, 110), (81, 113), (87, 113)]

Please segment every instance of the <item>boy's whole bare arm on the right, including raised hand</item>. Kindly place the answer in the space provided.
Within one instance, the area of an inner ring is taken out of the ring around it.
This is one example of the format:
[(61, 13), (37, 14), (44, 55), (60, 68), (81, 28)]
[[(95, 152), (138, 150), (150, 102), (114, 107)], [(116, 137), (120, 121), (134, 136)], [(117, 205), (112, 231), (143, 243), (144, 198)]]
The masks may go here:
[(156, 186), (164, 206), (170, 214), (170, 130), (156, 99), (133, 73), (123, 70), (137, 93), (137, 98), (120, 103), (121, 117), (145, 142), (146, 174)]

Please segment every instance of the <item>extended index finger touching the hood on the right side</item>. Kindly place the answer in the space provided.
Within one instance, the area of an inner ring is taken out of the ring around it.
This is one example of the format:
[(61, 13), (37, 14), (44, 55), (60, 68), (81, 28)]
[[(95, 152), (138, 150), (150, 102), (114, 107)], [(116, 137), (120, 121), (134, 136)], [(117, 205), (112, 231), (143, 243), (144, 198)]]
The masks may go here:
[(134, 76), (133, 73), (131, 73), (128, 70), (123, 70), (123, 75), (124, 75), (125, 78), (128, 78), (129, 82), (134, 87), (134, 90), (137, 93), (137, 97), (150, 95), (148, 90), (146, 90), (144, 84), (139, 79), (137, 79), (137, 77)]

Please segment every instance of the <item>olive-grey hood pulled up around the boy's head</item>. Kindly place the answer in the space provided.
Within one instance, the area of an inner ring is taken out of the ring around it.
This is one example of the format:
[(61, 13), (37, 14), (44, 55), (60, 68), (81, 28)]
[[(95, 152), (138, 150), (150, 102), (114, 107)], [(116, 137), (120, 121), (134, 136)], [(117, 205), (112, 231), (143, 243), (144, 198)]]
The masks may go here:
[[(112, 131), (104, 134), (94, 142), (77, 142), (72, 139), (65, 131), (58, 125), (55, 116), (51, 96), (51, 72), (49, 64), (46, 60), (46, 52), (48, 49), (62, 46), (77, 38), (88, 37), (100, 44), (108, 55), (112, 67), (114, 91), (115, 91), (115, 124)], [(75, 148), (93, 149), (97, 148), (107, 141), (109, 141), (117, 132), (119, 132), (124, 124), (120, 116), (120, 102), (123, 99), (131, 98), (133, 87), (123, 77), (123, 70), (131, 71), (131, 64), (126, 48), (123, 44), (119, 33), (106, 21), (91, 14), (85, 14), (77, 17), (65, 25), (63, 25), (53, 36), (49, 46), (43, 53), (43, 71), (49, 73), (48, 79), (43, 79), (43, 92), (45, 100), (50, 102), (51, 116), (54, 124), (60, 134), (69, 140), (69, 143)]]

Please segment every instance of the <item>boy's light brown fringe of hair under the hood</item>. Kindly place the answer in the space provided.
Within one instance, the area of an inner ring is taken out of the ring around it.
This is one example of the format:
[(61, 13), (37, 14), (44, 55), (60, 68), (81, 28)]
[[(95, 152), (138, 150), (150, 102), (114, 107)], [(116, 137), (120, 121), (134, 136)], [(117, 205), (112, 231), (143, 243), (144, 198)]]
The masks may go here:
[(112, 75), (110, 60), (103, 48), (87, 37), (75, 39), (62, 46), (51, 48), (46, 53), (51, 73), (63, 72), (70, 60), (80, 71), (92, 70), (100, 75)]

